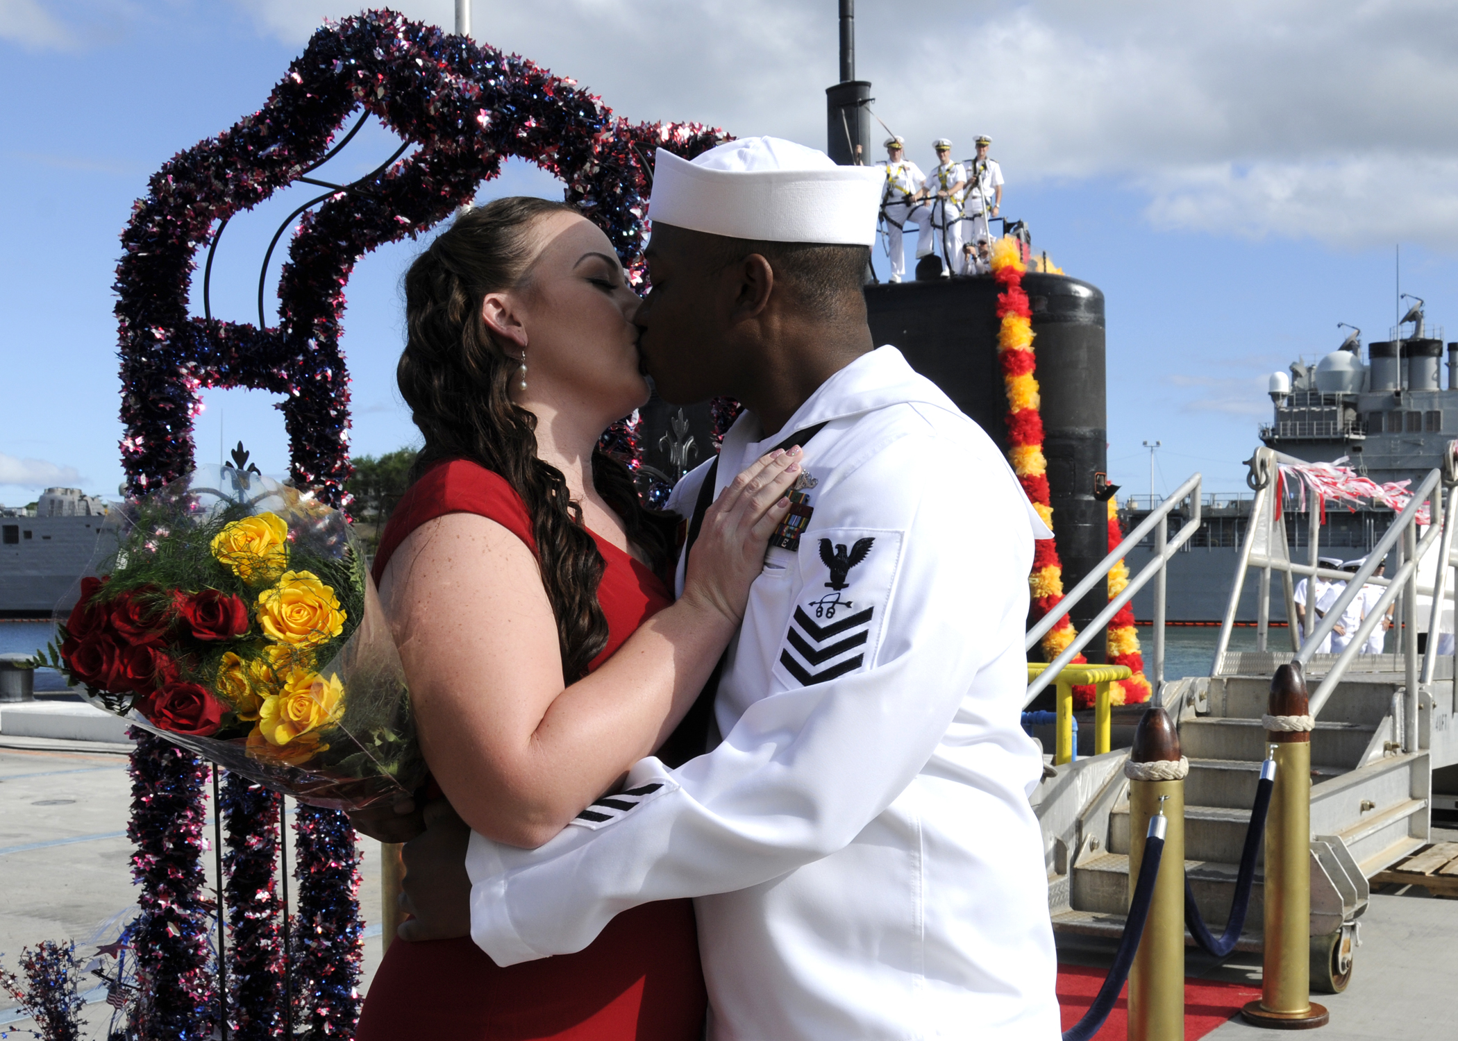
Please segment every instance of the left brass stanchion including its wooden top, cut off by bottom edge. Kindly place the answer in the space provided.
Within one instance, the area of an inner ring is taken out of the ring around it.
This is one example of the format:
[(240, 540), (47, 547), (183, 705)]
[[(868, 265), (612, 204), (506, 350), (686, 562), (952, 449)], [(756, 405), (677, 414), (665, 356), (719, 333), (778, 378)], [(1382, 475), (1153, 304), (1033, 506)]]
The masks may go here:
[(1149, 818), (1163, 812), (1168, 831), (1149, 920), (1128, 972), (1128, 1041), (1184, 1038), (1184, 779), (1188, 771), (1174, 720), (1161, 706), (1150, 706), (1139, 720), (1134, 746), (1124, 764), (1131, 892), (1145, 856)]

